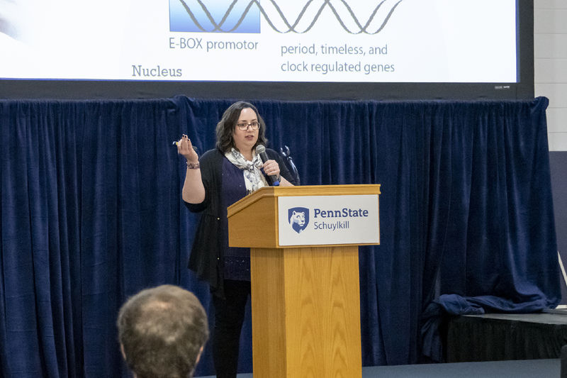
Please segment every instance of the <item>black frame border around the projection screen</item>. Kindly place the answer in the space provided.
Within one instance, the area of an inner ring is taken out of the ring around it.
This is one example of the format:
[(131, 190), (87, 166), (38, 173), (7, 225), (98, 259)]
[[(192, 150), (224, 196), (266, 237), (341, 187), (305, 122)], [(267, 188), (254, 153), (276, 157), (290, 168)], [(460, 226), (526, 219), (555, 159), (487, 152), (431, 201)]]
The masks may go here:
[[(157, 82), (0, 79), (0, 99), (422, 100), (533, 99), (534, 3), (517, 0), (516, 83)], [(245, 90), (243, 90), (245, 88)]]

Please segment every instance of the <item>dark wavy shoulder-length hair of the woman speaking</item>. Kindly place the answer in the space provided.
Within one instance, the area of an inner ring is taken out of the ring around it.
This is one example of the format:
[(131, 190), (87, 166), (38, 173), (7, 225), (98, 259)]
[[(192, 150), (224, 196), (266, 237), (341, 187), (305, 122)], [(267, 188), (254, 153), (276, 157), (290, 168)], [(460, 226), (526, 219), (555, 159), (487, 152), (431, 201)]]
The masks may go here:
[(240, 112), (242, 109), (246, 108), (250, 108), (256, 113), (258, 123), (260, 124), (260, 128), (258, 129), (258, 140), (253, 148), (256, 148), (257, 145), (265, 146), (268, 143), (268, 140), (266, 139), (266, 123), (264, 123), (264, 119), (262, 119), (258, 113), (256, 106), (249, 102), (238, 101), (230, 105), (228, 109), (225, 110), (223, 118), (220, 118), (220, 121), (217, 123), (216, 147), (223, 153), (230, 151), (233, 147), (236, 148), (235, 141), (232, 139), (232, 134), (235, 132), (236, 123), (238, 122), (238, 118), (240, 118)]

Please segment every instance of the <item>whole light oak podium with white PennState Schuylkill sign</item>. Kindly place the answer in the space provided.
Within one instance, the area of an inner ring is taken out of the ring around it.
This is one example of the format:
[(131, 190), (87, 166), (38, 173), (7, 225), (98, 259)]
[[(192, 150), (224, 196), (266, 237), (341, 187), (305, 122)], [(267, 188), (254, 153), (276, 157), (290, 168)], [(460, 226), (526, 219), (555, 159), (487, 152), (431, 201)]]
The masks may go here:
[(229, 245), (250, 248), (254, 378), (361, 377), (358, 245), (379, 244), (379, 194), (264, 187), (228, 208)]

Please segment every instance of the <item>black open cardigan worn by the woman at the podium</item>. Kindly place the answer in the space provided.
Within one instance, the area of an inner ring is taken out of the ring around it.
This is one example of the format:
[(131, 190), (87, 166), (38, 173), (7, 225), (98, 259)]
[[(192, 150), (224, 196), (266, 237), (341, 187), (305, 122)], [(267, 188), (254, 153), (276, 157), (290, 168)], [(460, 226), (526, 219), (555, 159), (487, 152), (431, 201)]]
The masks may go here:
[[(268, 157), (276, 160), (279, 164), (280, 175), (285, 177), (288, 182), (295, 184), (286, 164), (280, 155), (269, 148), (266, 148)], [(201, 204), (189, 204), (185, 206), (192, 212), (200, 212), (201, 219), (197, 226), (195, 240), (191, 248), (189, 257), (189, 269), (196, 272), (199, 279), (208, 282), (210, 291), (223, 296), (223, 246), (220, 235), (221, 217), (226, 216), (226, 209), (223, 209), (223, 157), (225, 155), (218, 149), (208, 150), (199, 159), (201, 165), (201, 177), (205, 187), (205, 199)]]

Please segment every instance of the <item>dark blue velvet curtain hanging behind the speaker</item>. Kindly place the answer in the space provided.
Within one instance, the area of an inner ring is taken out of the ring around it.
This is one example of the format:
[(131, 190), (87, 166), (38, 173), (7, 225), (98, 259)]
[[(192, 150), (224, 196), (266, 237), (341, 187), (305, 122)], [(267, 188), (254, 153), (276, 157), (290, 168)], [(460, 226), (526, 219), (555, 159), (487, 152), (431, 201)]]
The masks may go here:
[[(253, 102), (302, 184), (382, 185), (381, 245), (360, 249), (364, 365), (435, 357), (440, 299), (559, 303), (547, 99)], [(127, 377), (116, 315), (145, 287), (211, 308), (186, 269), (198, 215), (172, 141), (213, 148), (231, 103), (0, 101), (1, 377)], [(251, 348), (248, 314), (241, 372)], [(196, 373), (213, 374), (209, 348)]]

